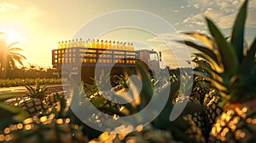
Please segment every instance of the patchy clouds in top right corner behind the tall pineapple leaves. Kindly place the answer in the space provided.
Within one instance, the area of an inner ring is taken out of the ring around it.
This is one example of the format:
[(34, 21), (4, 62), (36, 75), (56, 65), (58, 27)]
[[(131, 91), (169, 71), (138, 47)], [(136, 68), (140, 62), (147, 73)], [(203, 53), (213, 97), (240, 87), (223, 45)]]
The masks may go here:
[[(184, 19), (181, 24), (184, 26), (205, 26), (204, 18), (207, 17), (215, 22), (220, 29), (227, 29), (233, 26), (233, 23), (238, 12), (238, 8), (244, 2), (238, 0), (191, 0), (187, 7), (199, 9), (197, 14), (191, 14), (188, 18)], [(247, 13), (247, 26), (256, 26), (256, 0), (249, 1)]]

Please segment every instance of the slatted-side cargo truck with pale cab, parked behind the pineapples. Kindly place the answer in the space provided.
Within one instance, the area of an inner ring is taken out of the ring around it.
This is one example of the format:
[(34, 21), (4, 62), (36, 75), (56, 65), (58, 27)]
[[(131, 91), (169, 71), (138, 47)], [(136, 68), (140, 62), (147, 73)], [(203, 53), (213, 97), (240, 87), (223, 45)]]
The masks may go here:
[[(73, 44), (75, 45), (75, 44)], [(89, 46), (79, 45), (63, 47), (52, 50), (52, 65), (56, 69), (55, 74), (80, 75), (86, 83), (90, 83), (91, 77), (96, 77), (96, 66), (111, 68), (111, 76), (122, 75), (124, 71), (136, 71), (137, 61), (143, 61), (143, 66), (151, 77), (157, 78), (160, 72), (161, 53), (154, 50), (134, 50), (129, 46), (109, 46), (94, 44)]]

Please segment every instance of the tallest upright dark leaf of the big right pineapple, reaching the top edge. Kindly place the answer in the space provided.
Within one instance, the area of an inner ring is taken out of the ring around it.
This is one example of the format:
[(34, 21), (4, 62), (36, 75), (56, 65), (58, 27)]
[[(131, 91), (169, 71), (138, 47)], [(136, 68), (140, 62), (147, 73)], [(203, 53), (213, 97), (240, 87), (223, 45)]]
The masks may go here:
[(242, 4), (239, 13), (236, 16), (236, 21), (233, 26), (231, 43), (232, 46), (236, 49), (236, 55), (239, 61), (243, 57), (243, 37), (244, 37), (244, 25), (247, 18), (247, 0)]

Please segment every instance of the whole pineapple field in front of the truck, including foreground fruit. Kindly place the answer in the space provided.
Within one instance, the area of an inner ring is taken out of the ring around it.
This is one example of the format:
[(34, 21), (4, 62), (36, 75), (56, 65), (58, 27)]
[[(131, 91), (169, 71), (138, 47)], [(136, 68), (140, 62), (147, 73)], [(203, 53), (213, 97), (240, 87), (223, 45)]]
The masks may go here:
[(256, 142), (256, 39), (245, 44), (246, 14), (247, 0), (230, 37), (207, 18), (211, 36), (183, 33), (199, 42), (177, 41), (201, 52), (191, 71), (152, 77), (137, 62), (137, 78), (128, 70), (92, 83), (0, 79), (0, 91), (22, 89), (0, 92), (0, 142)]

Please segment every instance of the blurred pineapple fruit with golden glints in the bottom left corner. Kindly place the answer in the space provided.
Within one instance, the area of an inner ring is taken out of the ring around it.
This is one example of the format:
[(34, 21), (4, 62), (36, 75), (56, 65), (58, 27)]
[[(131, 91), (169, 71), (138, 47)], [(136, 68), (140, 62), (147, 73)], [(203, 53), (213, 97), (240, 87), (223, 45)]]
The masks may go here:
[[(88, 142), (81, 128), (71, 123), (70, 118), (54, 118), (54, 114), (43, 117), (29, 117), (22, 123), (11, 124), (3, 129), (0, 141), (32, 143), (75, 143)], [(3, 140), (2, 138), (3, 137)]]

